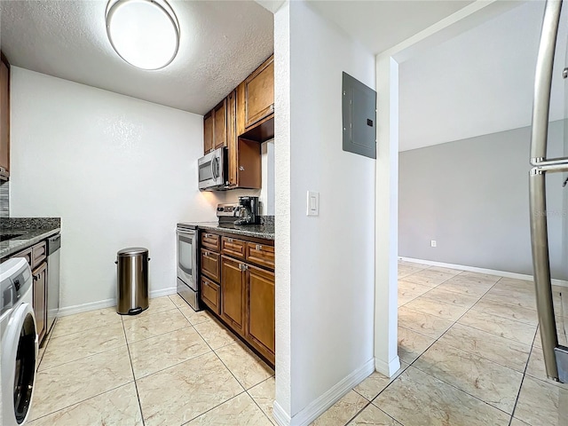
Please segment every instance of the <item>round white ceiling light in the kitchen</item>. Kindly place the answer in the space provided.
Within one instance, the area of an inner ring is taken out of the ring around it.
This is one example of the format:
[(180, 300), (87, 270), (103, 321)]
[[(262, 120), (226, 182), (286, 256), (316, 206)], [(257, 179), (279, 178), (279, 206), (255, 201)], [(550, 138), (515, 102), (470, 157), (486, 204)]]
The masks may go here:
[(179, 23), (164, 0), (110, 0), (106, 35), (122, 59), (142, 69), (166, 67), (179, 49)]

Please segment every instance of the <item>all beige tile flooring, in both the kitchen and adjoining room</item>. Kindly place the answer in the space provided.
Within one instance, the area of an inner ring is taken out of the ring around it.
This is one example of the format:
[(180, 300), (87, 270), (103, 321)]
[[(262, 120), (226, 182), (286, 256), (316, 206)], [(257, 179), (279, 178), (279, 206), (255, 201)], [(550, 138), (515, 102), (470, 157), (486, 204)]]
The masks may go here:
[[(370, 375), (313, 425), (568, 425), (568, 385), (544, 371), (532, 282), (398, 268), (402, 367)], [(554, 288), (564, 344), (565, 294)], [(177, 295), (137, 317), (110, 308), (58, 319), (46, 341), (33, 426), (273, 422), (272, 369)]]

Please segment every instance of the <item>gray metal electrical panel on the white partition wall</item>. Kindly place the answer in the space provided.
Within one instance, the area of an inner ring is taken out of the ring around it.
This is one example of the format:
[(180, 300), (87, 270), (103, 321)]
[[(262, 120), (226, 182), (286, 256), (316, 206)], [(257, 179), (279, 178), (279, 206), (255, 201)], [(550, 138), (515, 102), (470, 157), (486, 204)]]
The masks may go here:
[(376, 158), (376, 91), (343, 73), (343, 151)]

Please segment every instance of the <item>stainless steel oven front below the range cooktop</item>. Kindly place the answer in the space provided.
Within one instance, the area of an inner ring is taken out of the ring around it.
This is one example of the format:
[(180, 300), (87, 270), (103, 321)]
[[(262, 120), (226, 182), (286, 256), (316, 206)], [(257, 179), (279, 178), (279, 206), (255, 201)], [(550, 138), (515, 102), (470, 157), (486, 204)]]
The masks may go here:
[(177, 229), (177, 294), (199, 310), (197, 281), (197, 231)]

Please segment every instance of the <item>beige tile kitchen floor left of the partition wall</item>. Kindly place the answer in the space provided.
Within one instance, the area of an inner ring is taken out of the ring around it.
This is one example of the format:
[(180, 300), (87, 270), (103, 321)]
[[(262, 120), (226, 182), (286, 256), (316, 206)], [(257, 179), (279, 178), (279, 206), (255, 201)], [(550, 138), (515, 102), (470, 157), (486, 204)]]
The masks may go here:
[(272, 368), (177, 295), (59, 318), (45, 342), (31, 426), (272, 426)]

